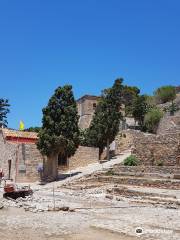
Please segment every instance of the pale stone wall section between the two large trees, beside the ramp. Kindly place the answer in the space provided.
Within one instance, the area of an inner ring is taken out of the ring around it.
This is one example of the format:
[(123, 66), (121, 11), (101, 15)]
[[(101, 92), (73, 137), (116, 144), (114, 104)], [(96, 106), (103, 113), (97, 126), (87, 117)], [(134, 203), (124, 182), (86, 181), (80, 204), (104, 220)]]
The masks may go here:
[(69, 168), (75, 169), (99, 162), (99, 148), (79, 146), (69, 160)]

